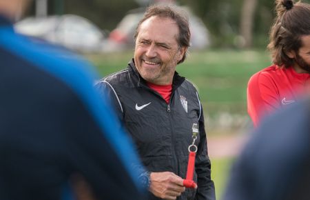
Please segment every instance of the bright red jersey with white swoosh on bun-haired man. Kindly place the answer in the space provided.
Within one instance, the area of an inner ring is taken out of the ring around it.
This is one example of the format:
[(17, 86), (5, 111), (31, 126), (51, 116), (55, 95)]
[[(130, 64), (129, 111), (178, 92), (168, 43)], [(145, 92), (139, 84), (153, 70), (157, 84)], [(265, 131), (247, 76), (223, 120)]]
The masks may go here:
[(265, 114), (295, 102), (309, 83), (310, 74), (298, 74), (293, 67), (273, 65), (254, 74), (247, 86), (247, 111), (254, 126)]

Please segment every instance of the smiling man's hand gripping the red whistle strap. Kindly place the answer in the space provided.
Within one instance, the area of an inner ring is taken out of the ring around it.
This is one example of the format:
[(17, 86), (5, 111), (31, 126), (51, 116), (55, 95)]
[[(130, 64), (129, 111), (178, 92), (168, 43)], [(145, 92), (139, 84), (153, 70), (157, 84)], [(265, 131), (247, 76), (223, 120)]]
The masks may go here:
[(183, 179), (173, 172), (152, 172), (149, 191), (161, 199), (176, 199), (185, 191)]

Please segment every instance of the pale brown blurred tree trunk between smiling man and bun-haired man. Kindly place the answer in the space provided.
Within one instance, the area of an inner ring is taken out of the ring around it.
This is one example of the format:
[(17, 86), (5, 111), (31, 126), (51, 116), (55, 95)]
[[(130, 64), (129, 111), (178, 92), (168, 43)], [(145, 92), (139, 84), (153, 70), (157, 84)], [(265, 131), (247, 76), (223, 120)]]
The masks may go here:
[(254, 14), (257, 0), (244, 0), (242, 3), (240, 34), (244, 39), (244, 48), (250, 48), (253, 43)]

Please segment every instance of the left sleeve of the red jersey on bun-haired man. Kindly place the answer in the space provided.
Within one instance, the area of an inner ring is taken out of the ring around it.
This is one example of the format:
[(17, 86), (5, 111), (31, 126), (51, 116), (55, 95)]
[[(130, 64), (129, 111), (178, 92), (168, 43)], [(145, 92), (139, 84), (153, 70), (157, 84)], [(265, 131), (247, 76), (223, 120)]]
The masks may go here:
[(280, 107), (278, 92), (269, 77), (261, 72), (254, 74), (247, 86), (247, 112), (254, 126), (262, 117)]

